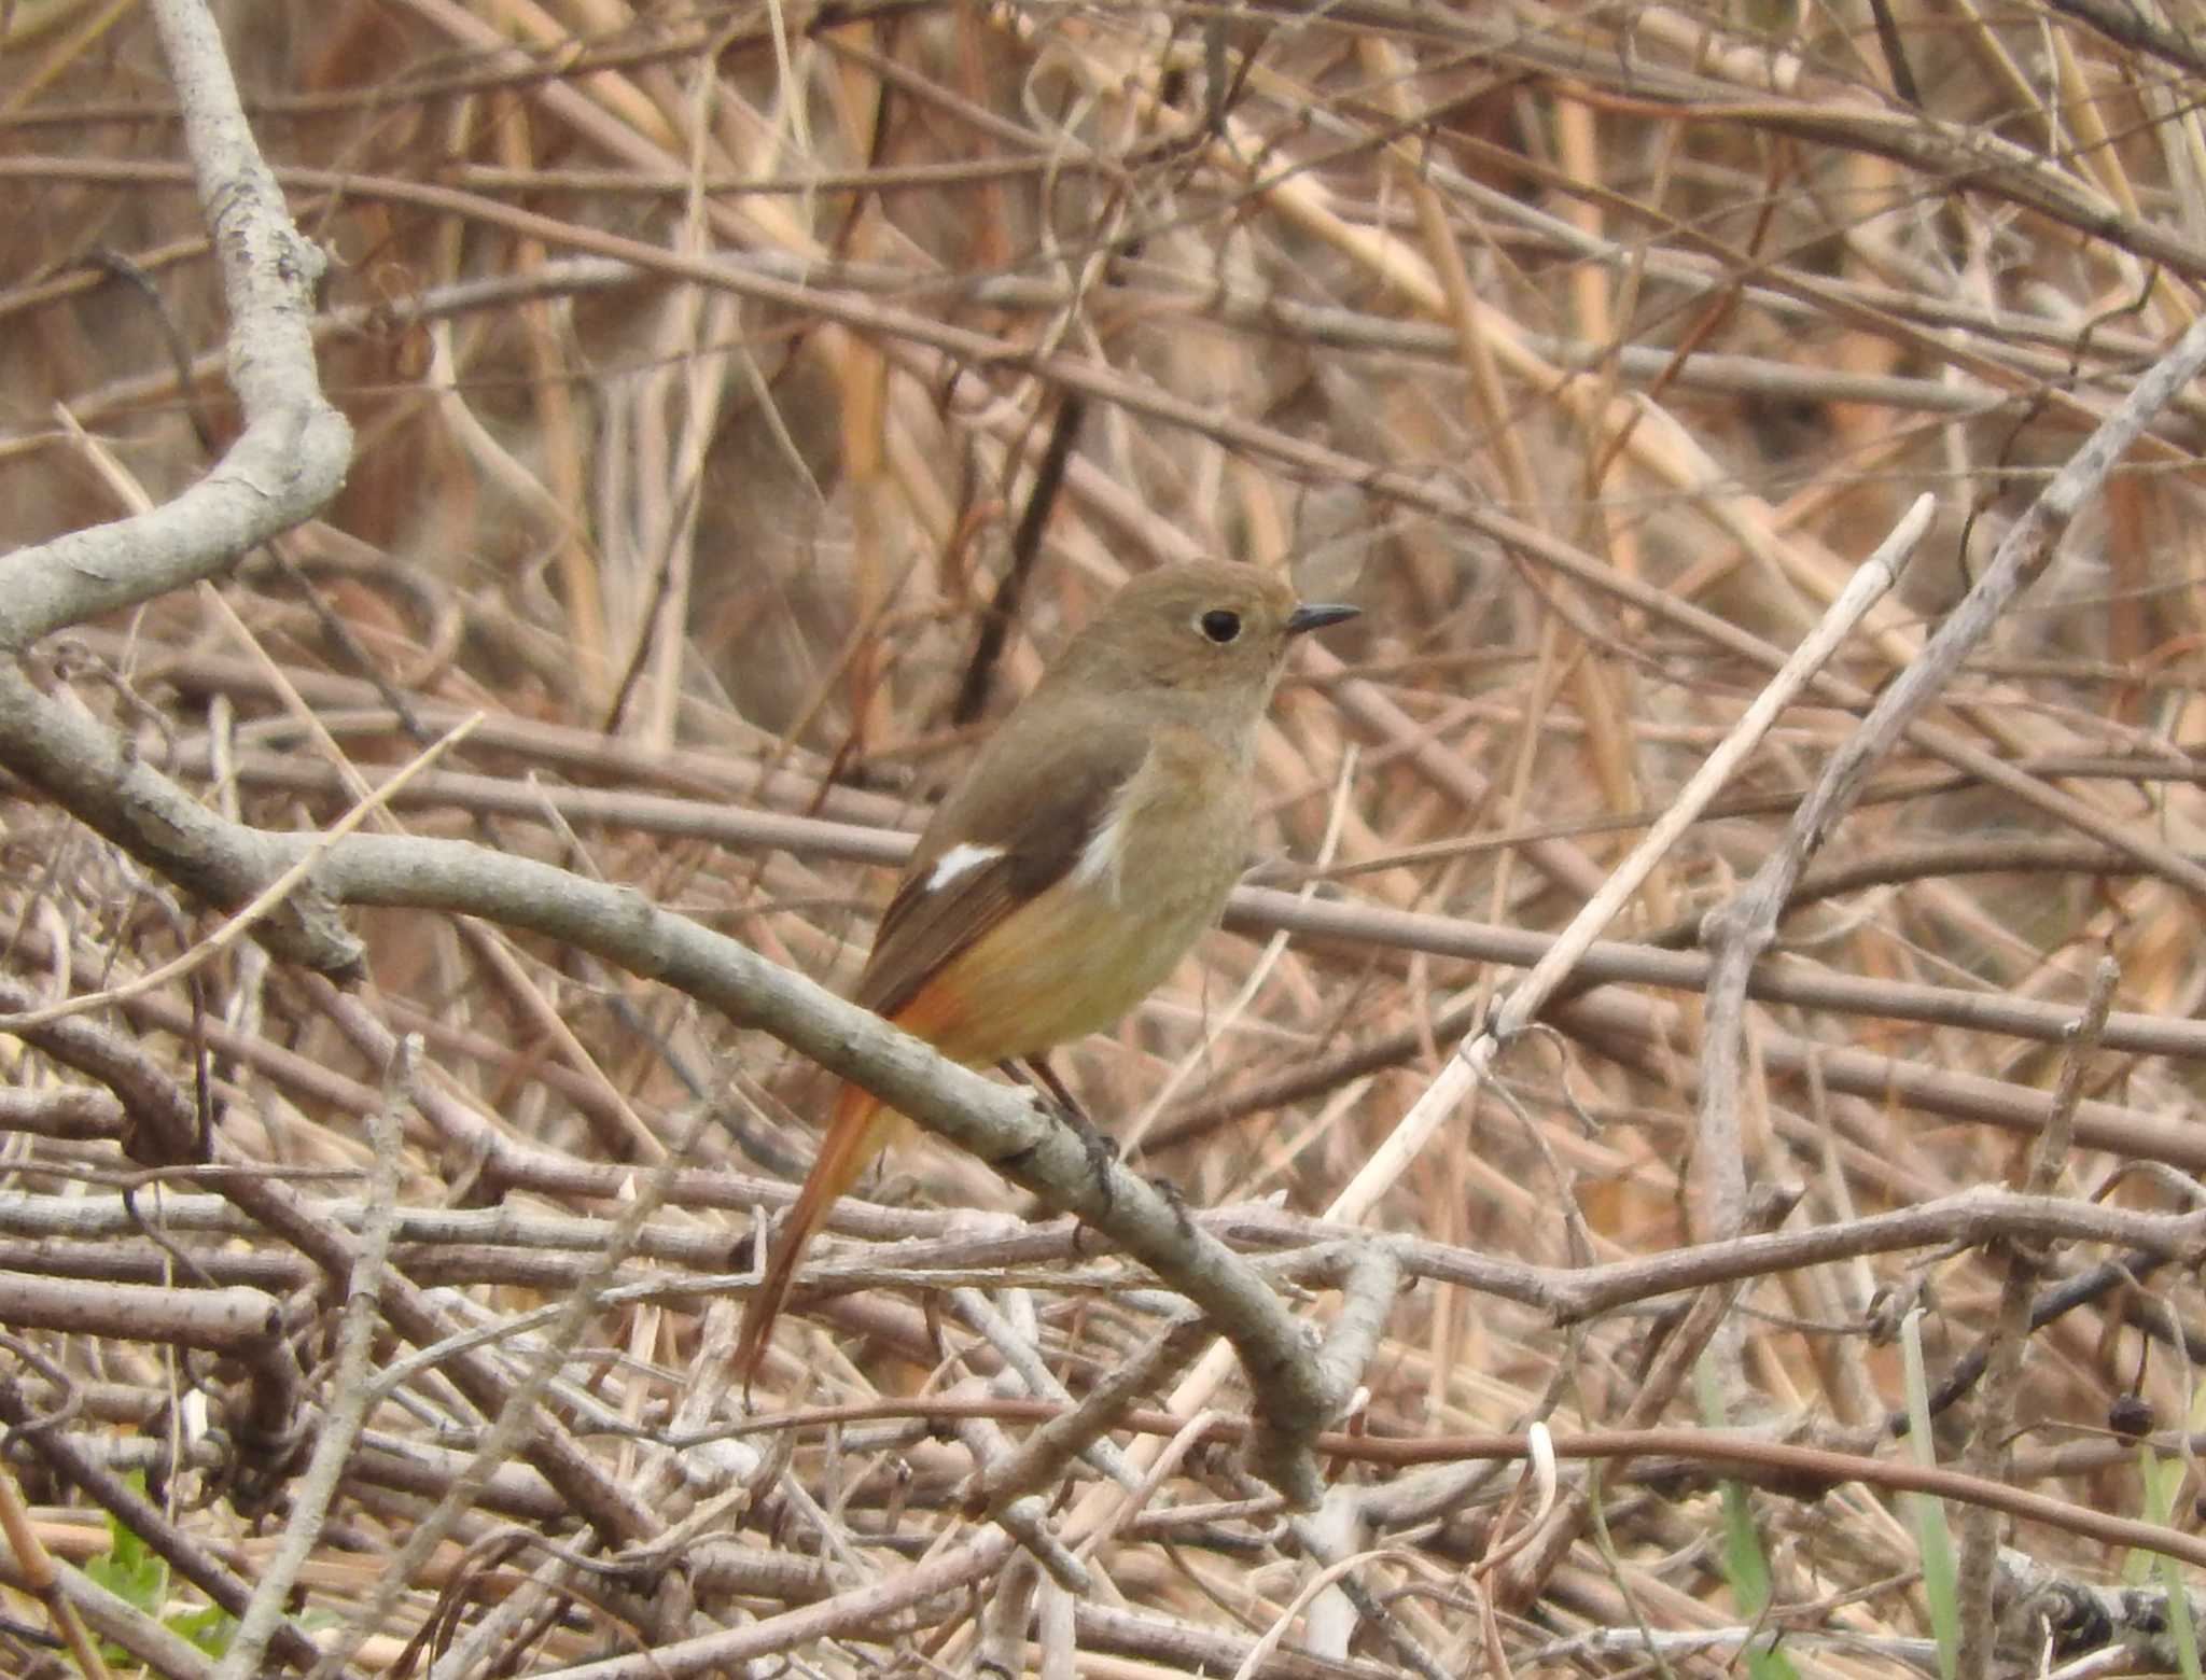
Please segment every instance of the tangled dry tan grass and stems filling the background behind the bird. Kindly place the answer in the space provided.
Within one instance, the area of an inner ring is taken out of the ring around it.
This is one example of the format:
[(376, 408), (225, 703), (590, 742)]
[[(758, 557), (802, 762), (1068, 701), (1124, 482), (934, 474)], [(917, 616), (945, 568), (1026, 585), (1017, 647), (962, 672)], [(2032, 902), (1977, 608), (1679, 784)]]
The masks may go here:
[[(148, 22), (15, 11), (0, 531), (31, 542), (113, 518), (117, 478), (152, 498), (192, 483), (234, 410)], [(1249, 937), (1262, 917), (1238, 922), (1065, 1071), (1191, 1208), (1319, 1215), (1509, 983), (1449, 930), (1560, 928), (1767, 677), (1674, 604), (1787, 648), (1930, 492), (1930, 540), (1838, 666), (1875, 690), (2197, 311), (2206, 128), (2175, 57), (2191, 37), (2109, 40), (2091, 11), (1897, 4), (1902, 97), (1875, 33), (1838, 35), (1827, 9), (1752, 26), (1531, 4), (922, 2), (834, 26), (768, 7), (240, 9), (227, 33), (260, 143), (338, 258), (322, 375), (360, 454), (322, 523), (225, 580), (238, 624), (176, 593), (51, 639), (38, 670), (274, 829), (344, 811), (335, 754), (373, 774), (483, 708), (397, 803), (406, 831), (631, 884), (843, 983), (885, 891), (849, 829), (913, 827), (1101, 595), (1196, 553), (1299, 567), (1366, 617), (1313, 650), (1264, 739), (1277, 880), (1302, 884), (1295, 866), (1324, 853), (1328, 902), (1423, 922), (1348, 917), (1275, 952)], [(2177, 858), (2206, 822), (2197, 423), (2195, 397), (2162, 417), (1939, 714)], [(960, 723), (1057, 426), (1077, 426), (1074, 452), (1041, 492), (982, 721)], [(1851, 725), (1838, 706), (1789, 710), (1613, 937), (1690, 944)], [(29, 789), (0, 778), (0, 983), (110, 986), (212, 930), (207, 906)], [(849, 829), (759, 844), (730, 827), (741, 811)], [(2021, 1184), (2060, 1023), (2113, 957), (2116, 1025), (2082, 1076), (2078, 1146), (2054, 1162), (2085, 1235), (2030, 1250), (2038, 1299), (2107, 1277), (2030, 1334), (2018, 1371), (1994, 1360), (2014, 1435), (1966, 1468), (2144, 1517), (2109, 1409), (2135, 1396), (2180, 1429), (2182, 1347), (2206, 1332), (2188, 1266), (2160, 1263), (2197, 1252), (2188, 1226), (2155, 1226), (2175, 1235), (2149, 1254), (2116, 1215), (2193, 1206), (2191, 1180), (2151, 1162), (2206, 1162), (2206, 1038), (2184, 1036), (2206, 963), (2168, 871), (2076, 838), (2043, 803), (1888, 758), (1765, 959), (1866, 986), (1756, 1005), (1741, 1149), (1752, 1182), (1800, 1186), (1789, 1232)], [(821, 1076), (576, 950), (408, 911), (351, 926), (373, 977), (353, 999), (245, 948), (88, 1030), (203, 1100), (225, 1151), (296, 1173), (333, 1226), (368, 1217), (366, 1122), (399, 1113), (393, 1266), (439, 1290), (450, 1332), (507, 1327), (507, 1382), (554, 1325), (523, 1316), (576, 1307), (552, 1411), (651, 1519), (591, 1537), (507, 1449), (353, 1671), (397, 1662), (417, 1631), (424, 1671), (446, 1651), (437, 1673), (549, 1673), (807, 1612), (770, 1643), (807, 1673), (1222, 1673), (1291, 1607), (1306, 1618), (1264, 1673), (1412, 1671), (1374, 1623), (1297, 1603), (1317, 1537), (1235, 1504), (1262, 1488), (1218, 1446), (1116, 1521), (1096, 1504), (1107, 1468), (1061, 1477), (1037, 1521), (1103, 1534), (1096, 1585), (1077, 1605), (1043, 1590), (1032, 1627), (1015, 1614), (1032, 1581), (1002, 1561), (898, 1598), (931, 1548), (986, 1539), (960, 1488), (1037, 1420), (1010, 1376), (993, 1426), (931, 1396), (1017, 1349), (1079, 1396), (1165, 1305), (1059, 1226), (997, 1252), (1026, 1226), (940, 1217), (1032, 1215), (949, 1151), (898, 1162), (880, 1206), (849, 1210), (863, 1241), (821, 1254), (823, 1279), (863, 1288), (783, 1325), (759, 1404), (812, 1422), (677, 1451), (739, 1418), (713, 1382), (730, 1288), (695, 1279), (741, 1263), (768, 1193), (743, 1175), (801, 1171)], [(1910, 988), (2038, 1005), (2043, 1030), (1926, 1016)], [(1399, 1299), (1348, 1420), (1368, 1451), (1330, 1442), (1357, 1499), (1330, 1512), (1326, 1557), (1368, 1552), (1348, 1581), (1445, 1673), (1641, 1673), (1650, 1636), (1677, 1640), (1677, 1673), (1714, 1673), (1736, 1640), (1683, 1636), (1752, 1620), (1718, 1543), (1738, 1464), (1613, 1468), (1606, 1539), (1588, 1523), (1511, 1581), (1482, 1563), (1527, 1521), (1507, 1504), (1516, 1468), (1447, 1479), (1390, 1455), (1476, 1464), (1500, 1449), (1469, 1437), (1535, 1418), (1566, 1437), (1621, 1426), (1663, 1336), (1692, 1323), (1677, 1310), (1701, 1303), (1699, 1398), (1688, 1363), (1639, 1424), (1690, 1442), (1721, 1415), (1758, 1442), (1906, 1464), (1886, 1429), (1893, 1332), (1924, 1307), (1937, 1385), (2001, 1321), (2012, 1248), (1915, 1230), (1754, 1266), (1736, 1299), (1639, 1296), (1566, 1329), (1529, 1285), (1476, 1288), (1474, 1257), (1522, 1285), (1524, 1268), (1727, 1235), (1694, 1177), (1694, 994), (1619, 979), (1549, 1019), (1502, 1065), (1516, 1109), (1458, 1113), (1366, 1219), (1429, 1243), (1412, 1272), (1436, 1281)], [(2122, 1038), (2146, 1027), (2173, 1038)], [(421, 1049), (386, 1096), (395, 1034)], [(146, 1468), (174, 1543), (249, 1583), (296, 1471), (291, 1442), (256, 1429), (331, 1404), (344, 1285), (221, 1182), (132, 1180), (126, 1202), (117, 1118), (42, 1118), (90, 1102), (84, 1076), (13, 1038), (0, 1065), (22, 1102), (0, 1111), (22, 1127), (0, 1188), (15, 1402), (73, 1396), (49, 1435), (84, 1464)], [(684, 1138), (686, 1171), (646, 1171)], [(591, 1277), (644, 1184), (660, 1206)], [(1253, 1217), (1235, 1235), (1260, 1252), (1295, 1237)], [(935, 1288), (911, 1285), (918, 1250), (865, 1246), (889, 1237), (933, 1241)], [(93, 1316), (33, 1310), (33, 1283), (68, 1281)], [(662, 1290), (620, 1292), (640, 1283)], [(949, 1301), (949, 1283), (997, 1292)], [(265, 1292), (278, 1329), (192, 1343), (176, 1316), (205, 1285)], [(1313, 1292), (1313, 1318), (1328, 1299)], [(975, 1334), (984, 1301), (997, 1321)], [(375, 1363), (415, 1351), (390, 1336)], [(271, 1393), (287, 1356), (298, 1391)], [(1169, 1389), (1152, 1385), (1121, 1449), (1167, 1437)], [(982, 1387), (957, 1393), (984, 1409)], [(1213, 1404), (1246, 1413), (1231, 1382)], [(1946, 1407), (1941, 1462), (1963, 1457), (1981, 1404), (1972, 1389)], [(349, 1627), (483, 1424), (437, 1369), (377, 1398), (302, 1576), (309, 1629)], [(11, 1464), (57, 1557), (108, 1546), (60, 1460), (18, 1444)], [(1930, 1634), (1897, 1495), (1844, 1471), (1752, 1479), (1796, 1671), (1924, 1662), (1888, 1643)], [(2182, 1526), (2195, 1495), (2184, 1471)], [(2122, 1565), (2105, 1534), (2003, 1521), (2054, 1576)], [(560, 1561), (591, 1548), (633, 1568)], [(485, 1620), (501, 1607), (510, 1620)], [(15, 1631), (0, 1649), (11, 1671), (46, 1660)]]

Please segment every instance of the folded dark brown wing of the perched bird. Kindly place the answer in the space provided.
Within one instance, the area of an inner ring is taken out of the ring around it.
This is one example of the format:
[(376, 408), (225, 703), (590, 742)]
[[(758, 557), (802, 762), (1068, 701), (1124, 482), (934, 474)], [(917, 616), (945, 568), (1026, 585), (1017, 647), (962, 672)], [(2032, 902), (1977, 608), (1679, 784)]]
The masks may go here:
[[(1079, 754), (1057, 754), (1052, 767), (1010, 778), (986, 774), (990, 761), (1035, 758), (1032, 743), (1019, 739), (1019, 714), (997, 732), (920, 836), (874, 935), (858, 1003), (896, 1019), (944, 963), (1072, 871), (1149, 752), (1147, 734), (1123, 719), (1096, 723), (1083, 732)], [(1079, 763), (1068, 767), (1068, 756)], [(990, 855), (935, 884), (957, 847), (984, 847)]]

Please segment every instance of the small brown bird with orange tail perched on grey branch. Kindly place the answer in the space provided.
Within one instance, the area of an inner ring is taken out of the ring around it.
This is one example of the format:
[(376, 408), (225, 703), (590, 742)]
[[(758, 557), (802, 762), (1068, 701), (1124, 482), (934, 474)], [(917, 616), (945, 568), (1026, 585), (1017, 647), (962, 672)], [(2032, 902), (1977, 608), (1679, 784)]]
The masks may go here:
[[(856, 1001), (971, 1067), (1041, 1056), (1141, 1003), (1249, 860), (1249, 769), (1288, 642), (1354, 613), (1227, 562), (1121, 589), (942, 800)], [(843, 1087), (743, 1310), (746, 1387), (805, 1243), (902, 1124)]]

